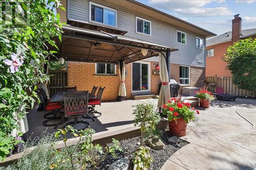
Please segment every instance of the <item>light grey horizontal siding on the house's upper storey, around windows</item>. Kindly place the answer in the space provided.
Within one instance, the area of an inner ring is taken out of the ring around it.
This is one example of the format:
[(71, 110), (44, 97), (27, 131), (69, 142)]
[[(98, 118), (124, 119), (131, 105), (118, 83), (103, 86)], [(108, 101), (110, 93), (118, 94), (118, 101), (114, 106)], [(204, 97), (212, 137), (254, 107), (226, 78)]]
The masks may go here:
[[(97, 3), (97, 2), (95, 2)], [(68, 19), (89, 22), (89, 1), (68, 0)], [(108, 6), (108, 4), (100, 4)], [(178, 48), (179, 51), (171, 53), (171, 63), (181, 65), (193, 65), (205, 67), (205, 37), (186, 31), (186, 28), (176, 28), (152, 18), (135, 14), (121, 8), (111, 7), (117, 10), (117, 28), (126, 30), (125, 36), (139, 38), (166, 46)], [(152, 36), (136, 33), (136, 16), (152, 22)], [(176, 42), (176, 31), (186, 33), (186, 45)], [(196, 37), (204, 39), (203, 50), (196, 47)]]

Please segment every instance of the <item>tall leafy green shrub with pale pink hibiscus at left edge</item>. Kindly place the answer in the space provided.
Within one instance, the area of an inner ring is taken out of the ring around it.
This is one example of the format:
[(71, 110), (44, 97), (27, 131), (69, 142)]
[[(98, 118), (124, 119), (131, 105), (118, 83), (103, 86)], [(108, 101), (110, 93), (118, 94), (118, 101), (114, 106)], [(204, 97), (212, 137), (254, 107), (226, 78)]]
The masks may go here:
[[(0, 3), (0, 160), (13, 149), (17, 117), (33, 107), (36, 83), (48, 80), (42, 65), (54, 51), (51, 37), (61, 38), (58, 0), (8, 1)], [(22, 134), (18, 134), (22, 135)]]

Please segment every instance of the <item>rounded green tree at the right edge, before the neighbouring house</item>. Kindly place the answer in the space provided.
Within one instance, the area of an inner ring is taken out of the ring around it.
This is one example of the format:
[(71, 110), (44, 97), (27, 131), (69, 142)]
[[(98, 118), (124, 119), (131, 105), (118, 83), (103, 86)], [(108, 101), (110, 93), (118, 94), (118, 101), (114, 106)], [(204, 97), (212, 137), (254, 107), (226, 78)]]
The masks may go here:
[(227, 62), (234, 84), (256, 91), (256, 39), (242, 39), (229, 46), (223, 60)]

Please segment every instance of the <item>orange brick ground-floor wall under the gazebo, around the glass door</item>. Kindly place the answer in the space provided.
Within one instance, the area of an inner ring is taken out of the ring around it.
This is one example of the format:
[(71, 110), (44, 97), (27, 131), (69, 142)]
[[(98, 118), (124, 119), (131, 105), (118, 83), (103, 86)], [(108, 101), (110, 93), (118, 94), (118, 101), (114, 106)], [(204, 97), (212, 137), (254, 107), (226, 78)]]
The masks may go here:
[[(160, 83), (159, 75), (153, 75), (152, 69), (154, 63), (151, 62), (151, 92), (152, 94), (158, 94), (158, 86)], [(118, 73), (118, 66), (116, 69), (117, 75), (96, 75), (95, 63), (85, 62), (68, 62), (68, 86), (77, 86), (77, 90), (92, 90), (92, 87), (102, 86), (106, 87), (103, 94), (103, 101), (116, 100), (119, 90), (120, 78)], [(132, 98), (132, 63), (125, 65), (125, 87), (126, 87), (126, 99)]]

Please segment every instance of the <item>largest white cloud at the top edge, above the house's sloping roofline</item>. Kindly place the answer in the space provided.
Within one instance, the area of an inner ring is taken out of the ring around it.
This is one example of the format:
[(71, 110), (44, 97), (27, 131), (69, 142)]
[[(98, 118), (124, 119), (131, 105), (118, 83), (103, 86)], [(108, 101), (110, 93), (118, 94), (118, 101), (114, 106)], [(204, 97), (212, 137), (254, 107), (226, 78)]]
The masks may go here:
[(206, 4), (217, 2), (223, 3), (225, 0), (195, 0), (195, 1), (178, 1), (178, 0), (151, 0), (150, 4), (154, 5), (153, 7), (173, 10), (181, 15), (187, 16), (197, 16), (197, 17), (206, 17), (206, 16), (224, 16), (233, 14), (226, 7), (217, 7), (217, 8), (202, 8)]

